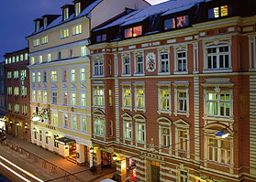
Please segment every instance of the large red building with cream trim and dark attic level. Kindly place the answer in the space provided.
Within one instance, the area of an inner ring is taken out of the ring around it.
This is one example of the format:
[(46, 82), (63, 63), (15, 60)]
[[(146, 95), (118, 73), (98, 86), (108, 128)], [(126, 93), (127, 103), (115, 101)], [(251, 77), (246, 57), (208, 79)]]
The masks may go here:
[(117, 156), (119, 181), (255, 181), (255, 17), (250, 0), (178, 0), (93, 29), (96, 165)]

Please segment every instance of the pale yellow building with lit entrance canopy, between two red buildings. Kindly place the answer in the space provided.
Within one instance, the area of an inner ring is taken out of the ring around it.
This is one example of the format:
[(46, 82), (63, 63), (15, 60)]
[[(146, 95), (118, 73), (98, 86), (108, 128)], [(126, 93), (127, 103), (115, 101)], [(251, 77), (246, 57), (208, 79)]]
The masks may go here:
[[(117, 2), (75, 0), (61, 7), (61, 16), (36, 19), (35, 32), (27, 37), (31, 141), (78, 165), (92, 166), (90, 31), (124, 11)], [(125, 4), (148, 5), (136, 2)]]

